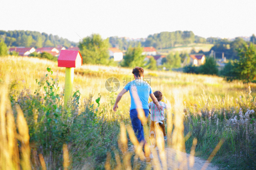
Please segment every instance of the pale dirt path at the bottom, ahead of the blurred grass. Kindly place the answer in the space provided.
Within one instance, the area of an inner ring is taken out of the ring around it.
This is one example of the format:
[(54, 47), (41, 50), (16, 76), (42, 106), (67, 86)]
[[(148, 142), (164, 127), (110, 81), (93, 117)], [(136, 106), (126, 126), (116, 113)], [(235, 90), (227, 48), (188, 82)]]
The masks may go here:
[[(157, 149), (151, 148), (151, 152), (154, 156), (152, 159), (152, 167), (154, 169), (188, 169), (188, 170), (218, 170), (217, 166), (213, 166), (211, 163), (198, 158), (190, 156), (190, 154), (183, 153), (183, 152), (176, 152), (174, 149), (166, 147), (165, 154), (159, 154)], [(166, 156), (166, 159), (161, 159)], [(167, 160), (164, 163), (161, 160)]]

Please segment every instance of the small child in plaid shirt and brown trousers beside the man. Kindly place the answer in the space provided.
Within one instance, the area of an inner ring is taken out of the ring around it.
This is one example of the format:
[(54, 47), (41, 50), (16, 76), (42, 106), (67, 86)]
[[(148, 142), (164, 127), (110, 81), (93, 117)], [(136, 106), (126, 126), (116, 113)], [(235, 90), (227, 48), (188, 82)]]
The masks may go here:
[[(159, 104), (160, 104), (163, 108), (167, 109), (166, 104), (165, 104), (163, 101), (161, 101), (161, 100), (163, 99), (163, 94), (162, 94), (162, 92), (160, 92), (160, 91), (155, 91), (155, 92), (154, 92), (154, 95), (155, 95), (155, 97), (157, 98)], [(151, 115), (150, 115), (150, 119), (151, 119), (150, 134), (151, 134), (151, 135), (154, 135), (155, 123), (156, 123), (157, 121), (162, 121), (163, 124), (160, 125), (160, 128), (161, 128), (162, 131), (163, 131), (164, 141), (166, 142), (167, 136), (166, 136), (165, 125), (164, 125), (164, 109), (161, 110), (161, 111), (159, 111), (159, 110), (157, 109), (156, 105), (155, 105), (152, 101), (149, 103), (149, 109), (151, 110)]]

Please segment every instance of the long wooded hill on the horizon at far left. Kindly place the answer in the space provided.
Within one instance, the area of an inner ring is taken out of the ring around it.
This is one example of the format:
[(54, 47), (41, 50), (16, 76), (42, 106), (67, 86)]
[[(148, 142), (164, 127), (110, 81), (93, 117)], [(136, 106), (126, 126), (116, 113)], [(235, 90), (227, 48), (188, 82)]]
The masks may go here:
[(77, 46), (77, 43), (71, 42), (57, 35), (40, 33), (38, 31), (2, 31), (0, 30), (0, 38), (8, 47), (63, 47)]

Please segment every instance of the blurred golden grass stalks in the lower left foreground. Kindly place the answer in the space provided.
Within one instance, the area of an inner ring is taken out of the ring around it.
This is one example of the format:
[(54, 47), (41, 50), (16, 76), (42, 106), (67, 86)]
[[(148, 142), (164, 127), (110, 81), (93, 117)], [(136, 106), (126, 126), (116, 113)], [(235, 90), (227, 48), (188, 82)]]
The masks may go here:
[[(0, 84), (0, 169), (31, 170), (29, 128), (19, 105), (15, 106), (17, 110), (17, 123), (15, 123), (13, 110), (8, 98), (9, 80), (9, 75), (6, 74), (4, 83)], [(35, 153), (33, 156), (34, 159), (39, 158), (42, 169), (46, 170), (43, 155)], [(66, 144), (63, 144), (63, 160), (63, 168), (67, 170), (69, 158)]]

